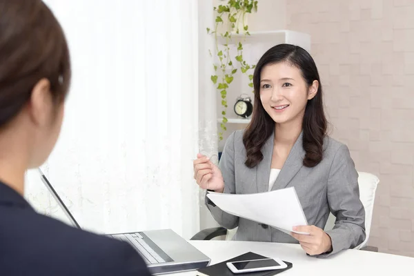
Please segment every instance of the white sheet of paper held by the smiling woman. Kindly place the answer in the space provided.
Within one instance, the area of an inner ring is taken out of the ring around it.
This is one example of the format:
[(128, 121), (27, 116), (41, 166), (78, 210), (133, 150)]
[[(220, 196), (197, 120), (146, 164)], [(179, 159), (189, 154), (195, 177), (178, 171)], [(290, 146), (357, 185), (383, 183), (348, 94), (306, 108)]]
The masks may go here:
[(267, 224), (288, 234), (308, 234), (293, 231), (293, 226), (308, 225), (294, 187), (247, 195), (209, 192), (207, 197), (231, 215)]

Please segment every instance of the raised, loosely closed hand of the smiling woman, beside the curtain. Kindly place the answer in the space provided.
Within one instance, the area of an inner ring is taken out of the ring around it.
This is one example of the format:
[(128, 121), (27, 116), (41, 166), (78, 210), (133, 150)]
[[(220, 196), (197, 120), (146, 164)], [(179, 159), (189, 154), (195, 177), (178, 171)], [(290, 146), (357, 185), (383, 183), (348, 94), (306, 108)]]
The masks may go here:
[(202, 189), (223, 193), (224, 180), (220, 169), (205, 155), (197, 154), (194, 160), (194, 179)]

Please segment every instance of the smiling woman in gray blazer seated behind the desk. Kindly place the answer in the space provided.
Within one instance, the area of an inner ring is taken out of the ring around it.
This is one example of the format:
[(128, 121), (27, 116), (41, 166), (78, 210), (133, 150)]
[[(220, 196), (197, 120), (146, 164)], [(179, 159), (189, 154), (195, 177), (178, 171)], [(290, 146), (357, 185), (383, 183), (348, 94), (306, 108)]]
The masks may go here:
[[(233, 239), (299, 243), (308, 255), (327, 256), (365, 239), (365, 211), (348, 148), (328, 137), (322, 85), (315, 61), (299, 46), (279, 44), (257, 63), (255, 103), (246, 130), (226, 140), (219, 167), (197, 155), (195, 179), (217, 193), (265, 193), (295, 187), (309, 226), (290, 235), (236, 217), (207, 200), (215, 220), (237, 233)], [(263, 210), (271, 212), (272, 210)], [(329, 213), (333, 230), (324, 231)]]

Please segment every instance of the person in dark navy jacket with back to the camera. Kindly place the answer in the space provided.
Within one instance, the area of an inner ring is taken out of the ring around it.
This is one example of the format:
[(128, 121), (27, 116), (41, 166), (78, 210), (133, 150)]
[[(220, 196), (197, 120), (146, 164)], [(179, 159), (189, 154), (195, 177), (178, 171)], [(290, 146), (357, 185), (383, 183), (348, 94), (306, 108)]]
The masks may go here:
[(0, 0), (0, 275), (150, 275), (129, 244), (39, 215), (23, 198), (25, 171), (55, 146), (69, 83), (52, 12), (41, 0)]

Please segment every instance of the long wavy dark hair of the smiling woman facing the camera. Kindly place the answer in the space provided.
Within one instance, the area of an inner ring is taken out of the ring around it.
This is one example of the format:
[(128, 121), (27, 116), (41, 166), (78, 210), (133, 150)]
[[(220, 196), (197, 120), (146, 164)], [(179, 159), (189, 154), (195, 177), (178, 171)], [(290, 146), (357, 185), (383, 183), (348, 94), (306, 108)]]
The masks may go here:
[(287, 61), (299, 68), (309, 86), (313, 81), (319, 81), (319, 89), (313, 99), (308, 100), (303, 119), (303, 148), (306, 152), (303, 164), (313, 167), (322, 161), (324, 137), (326, 136), (326, 117), (322, 103), (322, 84), (315, 61), (306, 50), (290, 44), (279, 44), (270, 48), (257, 63), (253, 75), (255, 87), (255, 104), (252, 121), (246, 128), (243, 143), (246, 148), (246, 166), (255, 167), (263, 159), (262, 146), (272, 135), (275, 121), (268, 115), (260, 100), (260, 75), (264, 66)]

